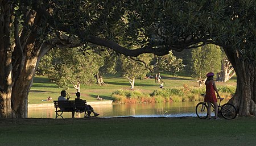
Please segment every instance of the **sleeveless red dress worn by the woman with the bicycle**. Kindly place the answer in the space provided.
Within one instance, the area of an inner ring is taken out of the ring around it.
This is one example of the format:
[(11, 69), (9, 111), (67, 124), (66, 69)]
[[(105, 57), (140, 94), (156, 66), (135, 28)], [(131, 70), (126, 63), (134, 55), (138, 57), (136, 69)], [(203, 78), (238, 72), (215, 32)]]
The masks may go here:
[(217, 102), (217, 98), (215, 95), (215, 90), (212, 84), (212, 81), (209, 81), (206, 85), (206, 95), (204, 98), (205, 102)]

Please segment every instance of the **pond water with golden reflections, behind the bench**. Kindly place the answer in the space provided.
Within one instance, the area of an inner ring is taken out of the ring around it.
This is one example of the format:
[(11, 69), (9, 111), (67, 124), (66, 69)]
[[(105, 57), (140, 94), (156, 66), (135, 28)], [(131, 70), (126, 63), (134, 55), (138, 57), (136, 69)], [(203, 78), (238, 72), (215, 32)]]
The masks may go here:
[[(127, 105), (93, 105), (93, 109), (101, 118), (134, 116), (134, 117), (181, 117), (196, 116), (195, 107), (199, 102), (172, 102), (172, 103), (140, 103)], [(93, 115), (93, 114), (92, 114)], [(64, 118), (71, 118), (71, 112), (64, 112)], [(76, 118), (84, 114), (75, 115)], [(29, 108), (28, 118), (55, 118), (53, 107)]]

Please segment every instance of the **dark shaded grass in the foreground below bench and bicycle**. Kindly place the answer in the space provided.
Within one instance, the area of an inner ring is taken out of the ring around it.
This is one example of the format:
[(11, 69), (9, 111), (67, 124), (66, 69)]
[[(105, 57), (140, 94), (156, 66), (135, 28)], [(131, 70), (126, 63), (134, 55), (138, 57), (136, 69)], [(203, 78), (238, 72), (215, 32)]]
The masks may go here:
[(256, 119), (0, 119), (0, 145), (256, 145)]

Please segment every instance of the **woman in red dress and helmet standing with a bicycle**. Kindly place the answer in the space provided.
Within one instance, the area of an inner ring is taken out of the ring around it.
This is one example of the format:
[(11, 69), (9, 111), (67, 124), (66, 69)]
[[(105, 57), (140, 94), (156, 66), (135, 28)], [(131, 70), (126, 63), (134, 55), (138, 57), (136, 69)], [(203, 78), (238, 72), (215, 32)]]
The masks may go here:
[(214, 114), (215, 114), (214, 119), (220, 119), (218, 118), (218, 104), (217, 104), (217, 98), (216, 98), (215, 92), (217, 93), (217, 97), (220, 97), (220, 95), (218, 94), (217, 87), (215, 85), (215, 82), (213, 81), (213, 76), (214, 76), (214, 73), (207, 73), (207, 81), (205, 81), (206, 94), (205, 94), (204, 101), (207, 102), (207, 106), (208, 106), (207, 112), (209, 115), (209, 120), (212, 119), (212, 116), (210, 115), (210, 107), (211, 107), (210, 103), (213, 103), (214, 105)]

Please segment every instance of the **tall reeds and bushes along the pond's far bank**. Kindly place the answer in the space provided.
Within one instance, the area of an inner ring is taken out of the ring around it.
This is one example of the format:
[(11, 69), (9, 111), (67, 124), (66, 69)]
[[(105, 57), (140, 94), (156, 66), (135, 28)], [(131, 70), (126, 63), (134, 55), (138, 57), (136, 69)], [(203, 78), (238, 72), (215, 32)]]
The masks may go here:
[[(229, 99), (236, 91), (236, 87), (219, 87), (222, 97)], [(114, 103), (155, 103), (155, 102), (181, 102), (181, 101), (203, 101), (201, 94), (205, 93), (205, 87), (189, 87), (183, 85), (181, 88), (157, 89), (152, 94), (144, 94), (137, 90), (117, 90), (112, 93)]]

